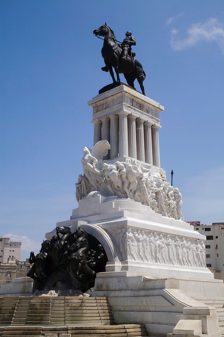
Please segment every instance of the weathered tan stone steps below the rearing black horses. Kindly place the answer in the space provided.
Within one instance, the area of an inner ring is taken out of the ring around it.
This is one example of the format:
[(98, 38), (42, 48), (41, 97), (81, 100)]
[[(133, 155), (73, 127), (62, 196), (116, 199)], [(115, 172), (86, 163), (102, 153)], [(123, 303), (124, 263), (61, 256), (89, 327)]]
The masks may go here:
[(119, 324), (107, 297), (5, 297), (0, 299), (0, 336), (147, 337), (142, 324)]

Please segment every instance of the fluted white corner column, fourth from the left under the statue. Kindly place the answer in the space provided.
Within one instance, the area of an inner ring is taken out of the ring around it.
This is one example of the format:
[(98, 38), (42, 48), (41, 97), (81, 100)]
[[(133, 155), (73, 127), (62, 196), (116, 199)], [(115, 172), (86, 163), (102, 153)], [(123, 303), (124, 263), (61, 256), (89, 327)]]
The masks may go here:
[(128, 157), (128, 140), (127, 140), (127, 115), (128, 112), (119, 112), (119, 156)]

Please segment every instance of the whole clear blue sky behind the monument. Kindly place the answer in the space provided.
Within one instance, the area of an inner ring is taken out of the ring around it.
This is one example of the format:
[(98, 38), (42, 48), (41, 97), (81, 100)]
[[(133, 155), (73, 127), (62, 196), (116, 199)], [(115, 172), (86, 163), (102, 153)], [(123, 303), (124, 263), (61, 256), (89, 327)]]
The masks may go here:
[[(223, 1), (4, 1), (1, 6), (0, 236), (22, 258), (77, 207), (87, 101), (111, 83), (102, 72), (102, 24), (127, 30), (160, 114), (161, 166), (183, 195), (185, 220), (224, 221)], [(138, 84), (136, 84), (137, 89)]]

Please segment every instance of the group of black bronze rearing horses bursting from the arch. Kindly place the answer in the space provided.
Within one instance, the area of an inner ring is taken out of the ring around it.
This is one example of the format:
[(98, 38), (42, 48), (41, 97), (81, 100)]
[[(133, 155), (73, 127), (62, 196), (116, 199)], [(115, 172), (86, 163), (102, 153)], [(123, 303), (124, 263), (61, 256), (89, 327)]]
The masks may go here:
[(78, 227), (72, 234), (70, 227), (56, 227), (56, 235), (43, 240), (40, 252), (36, 256), (33, 251), (30, 253), (29, 263), (33, 266), (27, 276), (37, 282), (38, 290), (50, 289), (60, 281), (64, 288), (77, 288), (78, 284), (76, 290), (84, 292), (94, 286), (96, 272), (101, 270), (99, 259), (104, 264), (101, 268), (106, 265), (106, 259), (102, 259), (102, 254), (106, 255), (103, 248), (94, 253), (98, 268), (90, 258), (88, 235), (83, 228)]

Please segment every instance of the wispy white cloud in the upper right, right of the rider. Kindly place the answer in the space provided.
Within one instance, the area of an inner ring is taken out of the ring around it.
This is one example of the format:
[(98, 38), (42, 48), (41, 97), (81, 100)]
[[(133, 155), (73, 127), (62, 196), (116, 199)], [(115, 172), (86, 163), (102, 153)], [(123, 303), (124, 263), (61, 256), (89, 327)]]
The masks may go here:
[(224, 54), (224, 24), (216, 18), (210, 18), (204, 23), (198, 22), (187, 29), (185, 38), (178, 36), (178, 31), (172, 29), (170, 32), (170, 44), (176, 51), (191, 48), (200, 41), (216, 42)]

